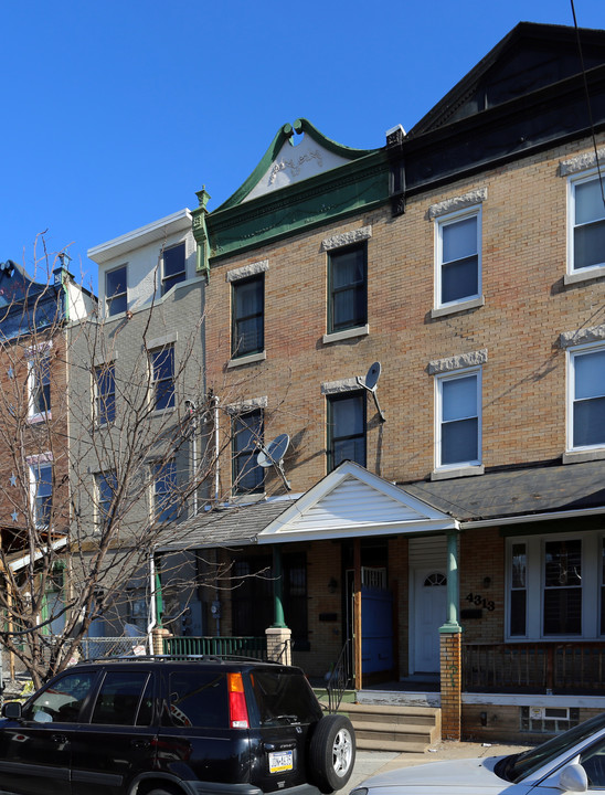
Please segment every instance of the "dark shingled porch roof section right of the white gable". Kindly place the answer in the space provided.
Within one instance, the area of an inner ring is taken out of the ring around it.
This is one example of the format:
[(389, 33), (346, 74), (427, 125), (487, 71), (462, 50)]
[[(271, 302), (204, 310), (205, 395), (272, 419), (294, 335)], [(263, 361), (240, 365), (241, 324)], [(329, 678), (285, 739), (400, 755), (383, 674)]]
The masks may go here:
[(605, 460), (541, 464), (452, 480), (400, 484), (460, 522), (605, 513)]

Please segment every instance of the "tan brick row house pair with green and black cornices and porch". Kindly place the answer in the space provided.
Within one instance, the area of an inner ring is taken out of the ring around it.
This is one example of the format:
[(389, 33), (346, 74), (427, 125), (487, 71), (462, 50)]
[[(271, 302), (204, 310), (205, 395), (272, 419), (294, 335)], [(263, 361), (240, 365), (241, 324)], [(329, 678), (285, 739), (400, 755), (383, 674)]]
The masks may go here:
[(243, 577), (204, 634), (291, 633), (321, 678), (354, 637), (358, 689), (426, 683), (445, 736), (604, 708), (604, 124), (605, 33), (521, 23), (385, 146), (299, 119), (201, 192), (232, 444), (160, 552)]

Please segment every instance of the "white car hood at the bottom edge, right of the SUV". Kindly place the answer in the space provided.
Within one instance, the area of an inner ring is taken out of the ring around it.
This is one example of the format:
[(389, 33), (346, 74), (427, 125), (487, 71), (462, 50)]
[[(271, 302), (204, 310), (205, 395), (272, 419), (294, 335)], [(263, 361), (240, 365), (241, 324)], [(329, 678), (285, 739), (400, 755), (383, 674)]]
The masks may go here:
[[(447, 787), (450, 793), (481, 792), (498, 793), (510, 791), (510, 782), (499, 778), (493, 772), (496, 763), (502, 756), (489, 756), (488, 759), (456, 760), (453, 762), (431, 762), (414, 767), (402, 767), (388, 773), (379, 773), (367, 778), (360, 786), (371, 791), (390, 789), (395, 787), (405, 792), (408, 787), (426, 787), (434, 791), (438, 787)], [(394, 794), (393, 794), (394, 795)]]

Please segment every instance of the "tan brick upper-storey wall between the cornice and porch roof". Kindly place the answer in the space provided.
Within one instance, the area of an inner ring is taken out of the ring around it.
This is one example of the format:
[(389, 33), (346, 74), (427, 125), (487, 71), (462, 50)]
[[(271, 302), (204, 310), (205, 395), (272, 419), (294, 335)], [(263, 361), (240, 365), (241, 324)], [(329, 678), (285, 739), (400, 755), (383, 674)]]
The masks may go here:
[[(429, 361), (487, 350), (482, 367), (482, 458), (486, 467), (560, 457), (565, 448), (565, 356), (562, 331), (603, 322), (605, 285), (563, 285), (566, 181), (559, 162), (591, 145), (562, 146), (473, 179), (408, 198), (395, 219), (388, 208), (346, 223), (216, 262), (208, 288), (209, 384), (223, 404), (267, 399), (267, 438), (287, 432), (286, 469), (302, 491), (326, 474), (323, 382), (364, 375), (382, 363), (381, 425), (368, 401), (368, 467), (388, 479), (424, 478), (434, 468), (434, 379)], [(431, 318), (435, 222), (428, 208), (484, 188), (485, 306)], [(370, 333), (326, 344), (327, 254), (321, 241), (371, 225), (368, 241)], [(262, 259), (266, 360), (227, 369), (229, 271)], [(226, 453), (225, 453), (226, 457)], [(222, 487), (231, 468), (222, 467)], [(267, 491), (282, 490), (270, 477)]]

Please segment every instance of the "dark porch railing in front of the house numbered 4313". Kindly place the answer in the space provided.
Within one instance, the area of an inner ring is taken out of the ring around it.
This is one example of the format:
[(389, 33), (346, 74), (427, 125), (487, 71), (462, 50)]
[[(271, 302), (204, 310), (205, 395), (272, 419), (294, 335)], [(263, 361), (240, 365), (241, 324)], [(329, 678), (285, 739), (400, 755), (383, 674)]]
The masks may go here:
[(465, 644), (466, 691), (603, 692), (605, 643)]

